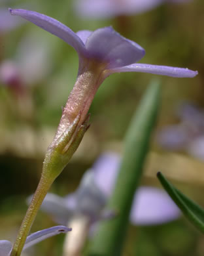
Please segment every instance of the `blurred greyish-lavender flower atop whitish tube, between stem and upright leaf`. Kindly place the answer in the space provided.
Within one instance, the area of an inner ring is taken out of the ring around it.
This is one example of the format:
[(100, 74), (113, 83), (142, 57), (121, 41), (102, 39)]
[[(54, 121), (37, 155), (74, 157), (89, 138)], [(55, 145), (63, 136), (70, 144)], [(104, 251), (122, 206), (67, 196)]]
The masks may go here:
[[(88, 170), (75, 193), (68, 194), (65, 198), (48, 193), (42, 202), (41, 210), (49, 213), (60, 224), (69, 223), (77, 215), (85, 215), (90, 223), (103, 219), (107, 216), (107, 211), (103, 212), (107, 198), (93, 180), (94, 172)], [(30, 201), (31, 197), (27, 202)]]

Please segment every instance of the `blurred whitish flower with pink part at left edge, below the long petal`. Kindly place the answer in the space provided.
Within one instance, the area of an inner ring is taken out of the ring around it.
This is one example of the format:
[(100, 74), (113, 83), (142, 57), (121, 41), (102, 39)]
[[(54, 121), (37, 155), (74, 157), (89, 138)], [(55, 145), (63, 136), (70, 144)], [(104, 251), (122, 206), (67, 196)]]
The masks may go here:
[(27, 33), (18, 43), (12, 60), (0, 63), (0, 83), (10, 87), (24, 87), (39, 83), (50, 72), (47, 41), (35, 41), (35, 38), (35, 33)]

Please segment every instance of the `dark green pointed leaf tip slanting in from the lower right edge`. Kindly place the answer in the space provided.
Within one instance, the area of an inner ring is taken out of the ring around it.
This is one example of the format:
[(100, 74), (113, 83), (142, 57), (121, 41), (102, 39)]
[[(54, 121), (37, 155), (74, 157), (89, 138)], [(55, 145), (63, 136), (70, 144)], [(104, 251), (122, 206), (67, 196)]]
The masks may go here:
[(202, 209), (193, 200), (190, 200), (187, 196), (182, 194), (175, 186), (173, 186), (162, 173), (158, 173), (158, 179), (160, 180), (163, 188), (167, 191), (172, 200), (178, 205), (182, 213), (186, 218), (196, 226), (201, 232), (204, 233), (204, 209)]

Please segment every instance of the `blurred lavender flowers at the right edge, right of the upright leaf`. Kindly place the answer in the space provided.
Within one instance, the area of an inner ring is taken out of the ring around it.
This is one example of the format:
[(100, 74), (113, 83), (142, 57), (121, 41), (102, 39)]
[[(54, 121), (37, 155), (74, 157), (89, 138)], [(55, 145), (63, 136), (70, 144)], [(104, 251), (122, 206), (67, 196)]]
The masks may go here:
[(157, 135), (158, 144), (167, 150), (184, 150), (204, 160), (204, 111), (193, 104), (182, 104), (177, 110), (180, 122), (167, 125)]

